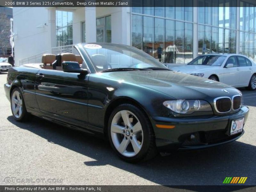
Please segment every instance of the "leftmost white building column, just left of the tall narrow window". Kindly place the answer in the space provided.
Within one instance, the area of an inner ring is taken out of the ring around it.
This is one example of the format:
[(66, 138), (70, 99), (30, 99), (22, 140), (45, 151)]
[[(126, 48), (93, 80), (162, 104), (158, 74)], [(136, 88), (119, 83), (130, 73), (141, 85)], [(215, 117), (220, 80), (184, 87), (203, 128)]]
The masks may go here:
[(48, 9), (48, 52), (51, 48), (56, 47), (56, 8)]

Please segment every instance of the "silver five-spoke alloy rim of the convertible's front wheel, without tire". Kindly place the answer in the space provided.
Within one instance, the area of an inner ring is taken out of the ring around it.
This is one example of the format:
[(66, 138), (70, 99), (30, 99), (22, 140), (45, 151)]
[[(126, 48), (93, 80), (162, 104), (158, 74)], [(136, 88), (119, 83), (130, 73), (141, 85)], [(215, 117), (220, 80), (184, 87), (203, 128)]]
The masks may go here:
[(110, 127), (111, 139), (116, 150), (126, 157), (140, 152), (143, 131), (139, 119), (128, 110), (122, 110), (113, 117)]

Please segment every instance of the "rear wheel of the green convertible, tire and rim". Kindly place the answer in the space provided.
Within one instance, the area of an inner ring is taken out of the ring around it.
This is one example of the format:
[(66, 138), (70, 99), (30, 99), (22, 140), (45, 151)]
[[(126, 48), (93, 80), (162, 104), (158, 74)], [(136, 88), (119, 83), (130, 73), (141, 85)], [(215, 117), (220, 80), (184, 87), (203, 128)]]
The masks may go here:
[(12, 116), (16, 121), (28, 120), (29, 114), (27, 112), (25, 102), (19, 88), (14, 88), (12, 90), (11, 110), (12, 110)]

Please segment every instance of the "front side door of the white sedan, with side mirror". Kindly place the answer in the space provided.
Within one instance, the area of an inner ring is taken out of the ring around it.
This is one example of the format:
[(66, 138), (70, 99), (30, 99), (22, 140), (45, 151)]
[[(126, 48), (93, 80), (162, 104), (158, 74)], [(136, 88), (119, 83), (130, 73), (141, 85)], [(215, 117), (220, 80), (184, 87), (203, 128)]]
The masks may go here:
[[(226, 68), (227, 64), (233, 64), (233, 67)], [(223, 83), (238, 86), (240, 84), (240, 69), (238, 67), (236, 56), (230, 56), (223, 68)]]

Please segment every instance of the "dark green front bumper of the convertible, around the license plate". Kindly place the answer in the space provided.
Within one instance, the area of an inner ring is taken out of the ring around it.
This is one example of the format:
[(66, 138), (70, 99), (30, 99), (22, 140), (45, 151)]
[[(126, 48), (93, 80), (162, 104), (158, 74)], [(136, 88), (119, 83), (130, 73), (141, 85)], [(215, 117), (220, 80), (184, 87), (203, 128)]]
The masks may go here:
[[(229, 135), (232, 120), (248, 117), (249, 108), (243, 106), (237, 113), (226, 116), (152, 117), (156, 146), (160, 152), (173, 149), (200, 149), (237, 140), (244, 134)], [(174, 125), (173, 129), (157, 128), (156, 124)], [(191, 134), (194, 138), (191, 139)]]

